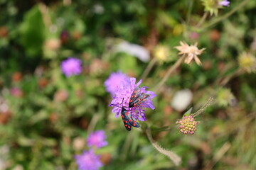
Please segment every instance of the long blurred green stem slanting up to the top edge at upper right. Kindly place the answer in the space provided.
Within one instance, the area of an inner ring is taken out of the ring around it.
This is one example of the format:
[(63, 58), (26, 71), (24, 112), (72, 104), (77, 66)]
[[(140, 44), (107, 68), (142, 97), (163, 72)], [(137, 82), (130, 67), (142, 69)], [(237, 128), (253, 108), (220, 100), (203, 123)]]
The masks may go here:
[(206, 29), (210, 26), (213, 26), (215, 23), (218, 23), (220, 21), (223, 21), (225, 18), (228, 18), (229, 16), (231, 16), (233, 13), (235, 13), (236, 11), (238, 11), (240, 8), (242, 8), (242, 6), (245, 6), (245, 4), (247, 4), (247, 2), (250, 0), (245, 0), (242, 1), (238, 6), (236, 6), (235, 8), (233, 8), (233, 10), (231, 10), (230, 12), (226, 13), (223, 16), (220, 16), (218, 18), (215, 18), (213, 21), (210, 21), (209, 23), (206, 23), (205, 26), (203, 26), (201, 28), (201, 30)]

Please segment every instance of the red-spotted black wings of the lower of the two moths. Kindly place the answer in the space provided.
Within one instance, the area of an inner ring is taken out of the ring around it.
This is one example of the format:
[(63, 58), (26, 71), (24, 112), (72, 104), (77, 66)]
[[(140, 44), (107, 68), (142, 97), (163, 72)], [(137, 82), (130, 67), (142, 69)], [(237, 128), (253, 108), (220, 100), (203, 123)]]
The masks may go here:
[(131, 113), (127, 111), (125, 108), (122, 108), (122, 113), (121, 113), (122, 121), (124, 122), (124, 127), (127, 130), (131, 130), (132, 126), (135, 128), (139, 128), (139, 123), (132, 118)]

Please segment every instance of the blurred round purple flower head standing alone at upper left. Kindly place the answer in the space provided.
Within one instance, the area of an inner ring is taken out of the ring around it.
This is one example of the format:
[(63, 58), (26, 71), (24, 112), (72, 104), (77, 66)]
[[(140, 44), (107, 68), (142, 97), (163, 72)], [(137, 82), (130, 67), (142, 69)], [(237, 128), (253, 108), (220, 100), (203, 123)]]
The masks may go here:
[(66, 77), (78, 75), (82, 72), (82, 62), (79, 59), (69, 57), (67, 60), (61, 62), (61, 71)]

